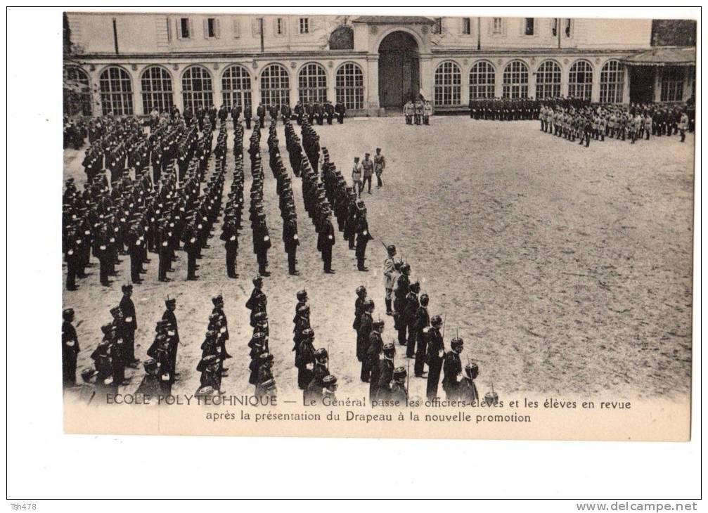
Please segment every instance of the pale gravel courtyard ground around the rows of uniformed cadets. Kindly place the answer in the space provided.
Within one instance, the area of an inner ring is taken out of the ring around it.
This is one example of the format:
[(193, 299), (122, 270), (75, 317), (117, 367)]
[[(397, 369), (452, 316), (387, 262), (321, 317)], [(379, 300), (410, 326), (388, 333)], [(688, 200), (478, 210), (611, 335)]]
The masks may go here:
[[(312, 306), (315, 346), (329, 347), (338, 396), (367, 396), (367, 385), (358, 379), (351, 329), (354, 290), (367, 287), (376, 313), (386, 321), (384, 341), (393, 341), (392, 318), (383, 315), (384, 242), (395, 243), (411, 263), (413, 279), (430, 295), (430, 315), (447, 319), (446, 345), (456, 333), (464, 339), (462, 359), (479, 363), (482, 393), (493, 380), (500, 396), (611, 393), (685, 400), (692, 343), (692, 134), (685, 144), (678, 137), (636, 144), (606, 139), (585, 148), (540, 132), (537, 122), (467, 117), (433, 117), (429, 127), (406, 126), (402, 117), (359, 118), (316, 131), (348, 180), (353, 157), (374, 154), (377, 147), (387, 169), (384, 188), (363, 195), (375, 238), (367, 252), (367, 273), (356, 270), (353, 251), (341, 237), (333, 251), (336, 274), (322, 272), (301, 184), (292, 176), (301, 239), (301, 275), (292, 277), (280, 237), (275, 180), (263, 159), (264, 203), (274, 241), (268, 255), (273, 275), (265, 279), (264, 291), (274, 376), (285, 399), (299, 398), (291, 350), (295, 292), (302, 288)], [(278, 134), (289, 166), (282, 125)], [(264, 155), (266, 137), (264, 130)], [(229, 133), (229, 170), (231, 144)], [(80, 183), (82, 155), (64, 152), (64, 175)], [(246, 198), (249, 182), (246, 170)], [(141, 359), (164, 299), (168, 294), (177, 299), (183, 346), (174, 393), (198, 388), (199, 347), (211, 297), (218, 293), (224, 295), (231, 335), (227, 348), (234, 355), (223, 388), (229, 394), (253, 388), (244, 306), (257, 269), (249, 223), (244, 222), (239, 238), (238, 279), (226, 277), (220, 226), (200, 260), (198, 282), (185, 281), (184, 254), (171, 275), (174, 281), (158, 282), (158, 259), (152, 255), (144, 283), (135, 286)], [(98, 283), (96, 266), (79, 280), (79, 291), (64, 292), (64, 306), (76, 310), (79, 370), (91, 365), (100, 326), (110, 321), (108, 310), (120, 301), (120, 284), (130, 279), (127, 257), (118, 269), (110, 288)], [(396, 365), (407, 367), (405, 348), (396, 349)], [(142, 367), (128, 374), (132, 384), (125, 391), (135, 391)], [(425, 381), (411, 378), (411, 396), (416, 395), (425, 396)]]

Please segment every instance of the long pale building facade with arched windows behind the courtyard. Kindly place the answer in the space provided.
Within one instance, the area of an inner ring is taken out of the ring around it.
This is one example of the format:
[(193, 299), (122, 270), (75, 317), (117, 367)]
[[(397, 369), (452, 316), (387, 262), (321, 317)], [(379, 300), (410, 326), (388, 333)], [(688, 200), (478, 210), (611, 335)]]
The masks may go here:
[(441, 112), (474, 98), (682, 101), (695, 87), (695, 48), (644, 58), (656, 50), (651, 20), (66, 13), (65, 21), (64, 73), (87, 115), (325, 98), (352, 115), (386, 115), (416, 94)]

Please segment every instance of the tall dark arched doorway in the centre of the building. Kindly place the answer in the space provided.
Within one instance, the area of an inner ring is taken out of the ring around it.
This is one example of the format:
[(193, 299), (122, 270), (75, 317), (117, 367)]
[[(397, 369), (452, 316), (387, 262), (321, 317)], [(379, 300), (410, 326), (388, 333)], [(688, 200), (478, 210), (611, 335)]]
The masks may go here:
[(420, 89), (418, 42), (406, 32), (390, 33), (379, 45), (379, 105), (400, 108)]

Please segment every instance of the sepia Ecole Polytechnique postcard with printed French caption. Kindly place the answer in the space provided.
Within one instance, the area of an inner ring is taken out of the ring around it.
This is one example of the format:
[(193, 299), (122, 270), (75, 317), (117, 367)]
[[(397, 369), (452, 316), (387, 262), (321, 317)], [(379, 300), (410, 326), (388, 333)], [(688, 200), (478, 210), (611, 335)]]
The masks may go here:
[(690, 439), (696, 21), (469, 15), (57, 14), (64, 432)]

